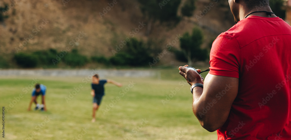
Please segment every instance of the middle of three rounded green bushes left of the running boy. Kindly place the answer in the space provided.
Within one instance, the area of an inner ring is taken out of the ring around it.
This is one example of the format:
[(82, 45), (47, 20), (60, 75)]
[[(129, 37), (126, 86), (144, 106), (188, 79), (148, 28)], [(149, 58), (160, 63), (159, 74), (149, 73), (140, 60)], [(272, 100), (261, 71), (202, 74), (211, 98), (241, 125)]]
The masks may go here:
[(38, 63), (40, 65), (54, 65), (53, 59), (56, 59), (57, 51), (56, 49), (42, 50), (33, 52), (33, 54), (38, 58)]

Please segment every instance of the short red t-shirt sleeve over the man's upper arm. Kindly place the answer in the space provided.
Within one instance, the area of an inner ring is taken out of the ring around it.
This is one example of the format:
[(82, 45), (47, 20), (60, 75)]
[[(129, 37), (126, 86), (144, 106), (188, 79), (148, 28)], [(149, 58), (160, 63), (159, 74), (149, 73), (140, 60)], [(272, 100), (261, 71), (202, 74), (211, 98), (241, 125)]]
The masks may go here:
[(240, 48), (236, 38), (221, 33), (210, 51), (210, 74), (239, 78)]

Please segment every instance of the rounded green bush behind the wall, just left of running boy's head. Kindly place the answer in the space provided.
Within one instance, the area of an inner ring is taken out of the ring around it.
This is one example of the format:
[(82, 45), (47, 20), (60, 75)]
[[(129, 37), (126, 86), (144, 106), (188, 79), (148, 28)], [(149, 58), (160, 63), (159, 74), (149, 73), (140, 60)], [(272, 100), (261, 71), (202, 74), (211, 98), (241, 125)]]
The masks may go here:
[(88, 58), (78, 53), (77, 49), (72, 49), (63, 57), (63, 62), (72, 67), (84, 66), (88, 63)]

